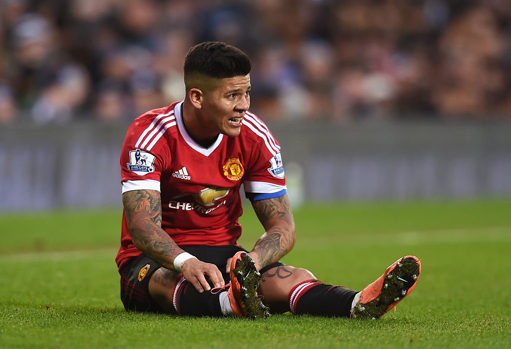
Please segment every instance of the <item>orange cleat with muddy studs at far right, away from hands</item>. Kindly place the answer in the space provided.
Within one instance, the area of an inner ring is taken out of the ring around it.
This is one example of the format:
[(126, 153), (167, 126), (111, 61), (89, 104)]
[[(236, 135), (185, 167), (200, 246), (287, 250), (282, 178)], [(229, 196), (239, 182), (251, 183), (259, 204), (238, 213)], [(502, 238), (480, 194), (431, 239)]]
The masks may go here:
[(407, 255), (400, 258), (362, 290), (350, 317), (379, 319), (410, 294), (420, 275), (421, 261), (417, 257)]

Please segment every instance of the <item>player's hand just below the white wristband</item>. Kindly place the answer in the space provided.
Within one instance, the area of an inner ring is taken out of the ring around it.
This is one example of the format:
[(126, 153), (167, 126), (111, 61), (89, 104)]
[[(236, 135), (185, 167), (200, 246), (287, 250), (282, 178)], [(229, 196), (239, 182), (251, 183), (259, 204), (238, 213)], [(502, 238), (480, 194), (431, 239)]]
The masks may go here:
[(184, 278), (189, 281), (200, 293), (204, 290), (211, 290), (210, 284), (206, 280), (206, 276), (211, 280), (215, 287), (225, 286), (222, 273), (217, 266), (211, 263), (199, 261), (197, 258), (191, 258), (184, 261), (181, 265), (181, 273)]

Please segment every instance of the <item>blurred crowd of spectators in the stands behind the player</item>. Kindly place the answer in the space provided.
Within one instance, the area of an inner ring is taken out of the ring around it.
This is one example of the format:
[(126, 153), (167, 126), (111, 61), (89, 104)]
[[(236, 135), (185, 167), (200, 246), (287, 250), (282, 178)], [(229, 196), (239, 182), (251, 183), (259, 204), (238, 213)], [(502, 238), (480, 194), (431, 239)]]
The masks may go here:
[(511, 121), (509, 0), (0, 0), (0, 124), (130, 121), (205, 40), (263, 120)]

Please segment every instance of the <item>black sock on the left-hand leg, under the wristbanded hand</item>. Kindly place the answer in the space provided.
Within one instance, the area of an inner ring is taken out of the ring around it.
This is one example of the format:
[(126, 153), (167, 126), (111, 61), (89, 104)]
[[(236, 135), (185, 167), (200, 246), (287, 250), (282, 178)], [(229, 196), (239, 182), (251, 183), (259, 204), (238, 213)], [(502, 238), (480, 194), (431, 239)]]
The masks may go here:
[(210, 291), (199, 293), (195, 287), (185, 281), (177, 294), (177, 313), (189, 316), (222, 316), (220, 293)]

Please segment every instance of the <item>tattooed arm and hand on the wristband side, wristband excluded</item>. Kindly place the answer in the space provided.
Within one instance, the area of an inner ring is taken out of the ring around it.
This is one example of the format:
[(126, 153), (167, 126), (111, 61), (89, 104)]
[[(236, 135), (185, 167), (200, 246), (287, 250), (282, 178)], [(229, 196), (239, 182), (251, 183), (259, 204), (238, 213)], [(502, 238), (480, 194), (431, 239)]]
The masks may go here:
[[(184, 252), (161, 228), (161, 197), (154, 190), (133, 190), (123, 194), (124, 213), (128, 230), (136, 248), (164, 268), (175, 270), (174, 259)], [(223, 286), (224, 281), (218, 268), (196, 258), (181, 265), (183, 276), (199, 292), (210, 290), (204, 275), (210, 277), (215, 287)]]

